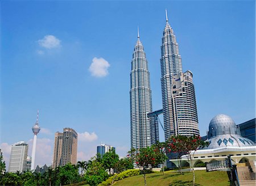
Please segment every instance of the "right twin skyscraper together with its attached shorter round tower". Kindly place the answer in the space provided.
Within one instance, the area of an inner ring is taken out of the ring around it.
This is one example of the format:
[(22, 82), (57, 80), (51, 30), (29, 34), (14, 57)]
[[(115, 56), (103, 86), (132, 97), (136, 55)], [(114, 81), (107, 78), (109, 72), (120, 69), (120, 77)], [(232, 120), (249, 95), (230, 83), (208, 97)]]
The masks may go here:
[[(164, 136), (166, 140), (170, 136), (177, 134), (186, 136), (199, 134), (192, 73), (190, 71), (182, 73), (179, 45), (174, 31), (168, 23), (167, 11), (166, 27), (162, 37), (160, 65)], [(176, 88), (176, 84), (179, 84), (179, 87)], [(182, 92), (183, 90), (184, 93)]]

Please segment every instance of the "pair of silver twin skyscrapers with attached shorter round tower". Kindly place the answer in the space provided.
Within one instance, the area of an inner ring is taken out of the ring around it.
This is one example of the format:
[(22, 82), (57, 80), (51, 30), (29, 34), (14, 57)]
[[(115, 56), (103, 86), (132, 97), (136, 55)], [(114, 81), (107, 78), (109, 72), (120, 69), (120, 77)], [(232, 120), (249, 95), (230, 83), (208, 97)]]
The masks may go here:
[[(168, 23), (167, 11), (160, 66), (166, 140), (172, 135), (199, 135), (193, 74), (191, 71), (182, 73), (179, 45)], [(140, 149), (159, 141), (159, 133), (158, 121), (147, 117), (147, 113), (152, 112), (150, 73), (139, 31), (131, 61), (130, 78), (131, 147)]]

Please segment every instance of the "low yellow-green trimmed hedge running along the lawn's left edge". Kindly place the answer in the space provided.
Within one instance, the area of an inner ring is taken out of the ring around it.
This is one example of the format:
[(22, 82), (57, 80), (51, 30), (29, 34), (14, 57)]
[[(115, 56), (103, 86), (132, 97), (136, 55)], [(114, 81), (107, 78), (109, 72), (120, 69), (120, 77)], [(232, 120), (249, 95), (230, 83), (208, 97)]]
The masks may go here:
[(118, 180), (122, 180), (126, 177), (137, 176), (137, 175), (140, 175), (140, 174), (141, 174), (141, 171), (138, 170), (138, 169), (126, 170), (126, 171), (123, 171), (123, 172), (117, 174), (117, 176), (109, 177), (106, 181), (102, 182), (100, 185), (101, 186), (108, 186), (108, 185), (112, 184), (113, 179), (114, 179), (114, 181), (118, 181)]

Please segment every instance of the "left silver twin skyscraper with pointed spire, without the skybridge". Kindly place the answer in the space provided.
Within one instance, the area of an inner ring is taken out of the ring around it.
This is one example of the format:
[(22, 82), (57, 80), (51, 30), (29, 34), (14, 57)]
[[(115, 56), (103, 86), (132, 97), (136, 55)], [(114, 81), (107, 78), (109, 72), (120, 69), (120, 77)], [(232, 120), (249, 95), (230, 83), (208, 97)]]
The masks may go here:
[(154, 142), (151, 137), (151, 119), (147, 117), (147, 113), (152, 111), (150, 73), (139, 31), (131, 61), (130, 81), (131, 147), (140, 149)]

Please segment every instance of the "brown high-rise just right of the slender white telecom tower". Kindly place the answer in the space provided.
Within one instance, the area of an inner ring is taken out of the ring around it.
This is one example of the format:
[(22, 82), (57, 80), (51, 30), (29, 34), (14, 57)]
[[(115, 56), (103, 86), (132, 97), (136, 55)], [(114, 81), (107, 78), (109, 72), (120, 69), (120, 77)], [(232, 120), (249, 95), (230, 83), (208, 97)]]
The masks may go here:
[(76, 131), (71, 128), (64, 128), (63, 133), (55, 133), (52, 168), (77, 163), (77, 138)]

